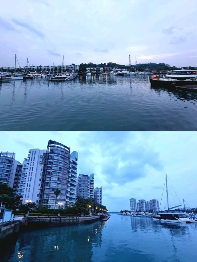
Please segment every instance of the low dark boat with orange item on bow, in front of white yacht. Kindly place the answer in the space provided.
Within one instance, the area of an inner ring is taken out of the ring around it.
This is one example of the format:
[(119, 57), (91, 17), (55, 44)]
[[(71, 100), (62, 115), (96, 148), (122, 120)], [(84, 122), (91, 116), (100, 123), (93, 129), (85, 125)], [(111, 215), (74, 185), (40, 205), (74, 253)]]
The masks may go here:
[(175, 88), (176, 86), (183, 86), (183, 85), (196, 85), (197, 84), (197, 77), (192, 77), (190, 79), (173, 79), (173, 78), (159, 78), (153, 77), (150, 79), (151, 87), (164, 87), (164, 88)]

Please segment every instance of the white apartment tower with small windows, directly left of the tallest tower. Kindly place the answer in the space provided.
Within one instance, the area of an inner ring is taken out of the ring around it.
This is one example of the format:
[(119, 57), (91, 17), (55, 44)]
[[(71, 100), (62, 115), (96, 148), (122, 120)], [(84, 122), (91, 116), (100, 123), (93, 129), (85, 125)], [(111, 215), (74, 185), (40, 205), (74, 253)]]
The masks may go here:
[(22, 163), (22, 176), (19, 188), (22, 195), (22, 204), (26, 204), (29, 201), (39, 203), (42, 200), (43, 154), (46, 153), (46, 150), (34, 148), (28, 152), (27, 158), (25, 158)]

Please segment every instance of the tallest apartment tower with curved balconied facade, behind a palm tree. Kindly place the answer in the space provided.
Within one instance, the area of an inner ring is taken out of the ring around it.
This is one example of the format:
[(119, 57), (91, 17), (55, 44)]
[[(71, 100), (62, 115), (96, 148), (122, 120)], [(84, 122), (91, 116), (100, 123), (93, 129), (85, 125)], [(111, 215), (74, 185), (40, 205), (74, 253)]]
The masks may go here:
[[(57, 141), (49, 140), (44, 158), (42, 203), (48, 205), (49, 208), (69, 204), (70, 148)], [(58, 197), (54, 195), (56, 189), (61, 192)]]

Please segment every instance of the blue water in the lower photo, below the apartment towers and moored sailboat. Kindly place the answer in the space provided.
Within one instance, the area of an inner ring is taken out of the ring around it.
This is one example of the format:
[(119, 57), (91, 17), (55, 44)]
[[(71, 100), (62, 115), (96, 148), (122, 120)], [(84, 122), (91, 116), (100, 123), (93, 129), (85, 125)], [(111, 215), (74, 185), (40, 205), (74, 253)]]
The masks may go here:
[(22, 232), (1, 261), (196, 262), (197, 224), (113, 214), (108, 221)]

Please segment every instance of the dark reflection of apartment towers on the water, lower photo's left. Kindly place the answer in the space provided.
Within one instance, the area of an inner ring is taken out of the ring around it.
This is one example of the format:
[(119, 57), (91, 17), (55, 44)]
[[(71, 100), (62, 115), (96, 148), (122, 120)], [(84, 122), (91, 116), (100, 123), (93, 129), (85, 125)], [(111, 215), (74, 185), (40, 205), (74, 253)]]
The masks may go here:
[[(18, 235), (10, 255), (14, 261), (90, 261), (93, 247), (101, 247), (103, 227), (108, 221), (34, 229)], [(86, 244), (85, 244), (86, 243)], [(54, 252), (55, 251), (55, 252)]]

